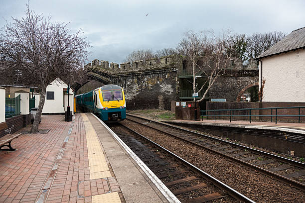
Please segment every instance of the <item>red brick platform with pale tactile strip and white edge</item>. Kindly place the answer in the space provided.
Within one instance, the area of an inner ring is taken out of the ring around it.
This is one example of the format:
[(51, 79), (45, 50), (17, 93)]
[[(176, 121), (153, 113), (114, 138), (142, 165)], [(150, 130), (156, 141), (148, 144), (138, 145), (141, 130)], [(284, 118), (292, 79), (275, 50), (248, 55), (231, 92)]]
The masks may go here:
[[(175, 197), (91, 113), (42, 116), (0, 152), (0, 202), (166, 203)], [(47, 133), (46, 133), (47, 132)]]

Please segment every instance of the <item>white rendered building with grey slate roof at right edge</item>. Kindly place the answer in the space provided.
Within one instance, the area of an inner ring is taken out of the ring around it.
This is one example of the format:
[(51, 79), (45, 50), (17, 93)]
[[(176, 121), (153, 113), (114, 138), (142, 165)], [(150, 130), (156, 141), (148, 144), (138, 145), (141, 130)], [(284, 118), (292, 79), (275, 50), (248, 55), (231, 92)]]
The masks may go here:
[(305, 27), (292, 31), (256, 59), (262, 102), (305, 102)]

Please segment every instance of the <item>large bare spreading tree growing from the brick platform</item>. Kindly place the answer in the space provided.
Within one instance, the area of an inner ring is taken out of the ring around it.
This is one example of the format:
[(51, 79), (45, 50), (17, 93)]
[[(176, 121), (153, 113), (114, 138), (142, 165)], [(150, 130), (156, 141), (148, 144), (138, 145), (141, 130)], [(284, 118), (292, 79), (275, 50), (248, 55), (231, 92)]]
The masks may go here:
[[(12, 18), (0, 29), (0, 77), (38, 87), (40, 101), (32, 126), (38, 131), (38, 124), (45, 101), (46, 87), (59, 78), (68, 83), (80, 78), (86, 48), (90, 45), (80, 37), (81, 30), (70, 33), (67, 23), (51, 23), (50, 15), (44, 18), (26, 5), (25, 16)], [(5, 74), (5, 75), (3, 75)]]

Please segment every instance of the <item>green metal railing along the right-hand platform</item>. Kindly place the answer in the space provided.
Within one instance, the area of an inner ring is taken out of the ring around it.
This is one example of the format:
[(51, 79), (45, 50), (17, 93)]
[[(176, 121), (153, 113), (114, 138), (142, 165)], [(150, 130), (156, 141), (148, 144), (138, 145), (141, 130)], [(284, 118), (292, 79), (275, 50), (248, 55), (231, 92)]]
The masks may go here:
[[(271, 122), (273, 122), (273, 118), (275, 118), (275, 123), (277, 124), (278, 117), (298, 117), (299, 123), (301, 122), (301, 117), (304, 117), (305, 114), (301, 114), (301, 109), (304, 109), (305, 106), (290, 106), (290, 107), (267, 107), (267, 108), (233, 108), (233, 109), (214, 109), (214, 110), (201, 110), (200, 114), (203, 120), (203, 117), (214, 117), (214, 121), (216, 121), (216, 117), (218, 117), (218, 120), (221, 116), (224, 117), (230, 117), (231, 120), (234, 119), (234, 117), (249, 117), (249, 121), (251, 123), (251, 120), (253, 117), (271, 117)], [(261, 114), (262, 110), (269, 110), (270, 114)], [(279, 109), (297, 109), (298, 114), (279, 114)], [(274, 112), (275, 110), (275, 112)], [(235, 113), (236, 111), (242, 111), (242, 114)], [(245, 114), (245, 111), (247, 114)], [(252, 114), (252, 111), (259, 111), (259, 114)], [(213, 112), (212, 114), (209, 114), (209, 112)], [(218, 114), (216, 114), (218, 112)], [(220, 114), (220, 112), (227, 112), (227, 114)], [(275, 113), (275, 114), (274, 114)]]

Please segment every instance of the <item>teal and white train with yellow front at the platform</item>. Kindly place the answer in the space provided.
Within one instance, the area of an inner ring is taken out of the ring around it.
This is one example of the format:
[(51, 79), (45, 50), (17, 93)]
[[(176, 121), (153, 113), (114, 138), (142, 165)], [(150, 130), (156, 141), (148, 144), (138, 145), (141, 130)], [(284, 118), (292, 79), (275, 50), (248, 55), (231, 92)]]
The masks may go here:
[(103, 121), (117, 122), (126, 118), (124, 90), (118, 85), (104, 85), (76, 95), (75, 103), (84, 110), (97, 114)]

